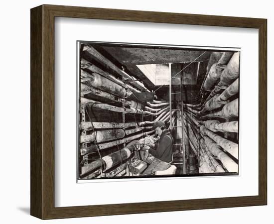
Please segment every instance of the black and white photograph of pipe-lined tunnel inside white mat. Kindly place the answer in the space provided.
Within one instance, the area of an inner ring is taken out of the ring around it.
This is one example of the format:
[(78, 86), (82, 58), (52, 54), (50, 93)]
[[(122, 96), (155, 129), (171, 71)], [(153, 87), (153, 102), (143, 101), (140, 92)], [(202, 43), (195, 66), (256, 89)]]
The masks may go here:
[(239, 175), (239, 48), (77, 46), (78, 180)]

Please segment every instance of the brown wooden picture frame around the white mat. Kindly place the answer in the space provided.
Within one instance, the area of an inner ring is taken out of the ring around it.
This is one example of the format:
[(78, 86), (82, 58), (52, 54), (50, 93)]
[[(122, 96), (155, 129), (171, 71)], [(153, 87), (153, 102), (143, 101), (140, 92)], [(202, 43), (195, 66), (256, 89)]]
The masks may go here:
[[(259, 195), (54, 207), (54, 18), (91, 18), (259, 29)], [(31, 9), (31, 208), (40, 219), (267, 205), (267, 19), (40, 5)]]

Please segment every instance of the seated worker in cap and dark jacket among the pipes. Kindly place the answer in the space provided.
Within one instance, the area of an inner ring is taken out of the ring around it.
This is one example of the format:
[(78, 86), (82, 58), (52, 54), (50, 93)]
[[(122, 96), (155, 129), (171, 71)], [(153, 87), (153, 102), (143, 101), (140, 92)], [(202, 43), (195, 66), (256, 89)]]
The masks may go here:
[(173, 138), (170, 131), (166, 129), (164, 121), (154, 122), (153, 129), (160, 136), (158, 143), (153, 143), (149, 138), (145, 138), (143, 150), (148, 151), (155, 160), (147, 167), (141, 175), (153, 175), (156, 171), (166, 170), (172, 162)]

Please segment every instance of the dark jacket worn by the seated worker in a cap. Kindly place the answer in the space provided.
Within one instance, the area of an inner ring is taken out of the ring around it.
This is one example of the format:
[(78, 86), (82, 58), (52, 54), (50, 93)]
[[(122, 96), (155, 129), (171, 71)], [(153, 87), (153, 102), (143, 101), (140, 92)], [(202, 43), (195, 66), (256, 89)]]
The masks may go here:
[(172, 144), (173, 138), (169, 130), (164, 130), (160, 136), (158, 144), (156, 143), (154, 146), (156, 150), (150, 148), (148, 152), (161, 161), (169, 163), (172, 161)]

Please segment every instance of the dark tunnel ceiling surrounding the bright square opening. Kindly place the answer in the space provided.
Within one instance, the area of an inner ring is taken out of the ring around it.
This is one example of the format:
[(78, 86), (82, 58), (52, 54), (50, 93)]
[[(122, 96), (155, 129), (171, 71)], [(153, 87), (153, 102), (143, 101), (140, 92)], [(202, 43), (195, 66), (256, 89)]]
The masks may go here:
[[(143, 46), (113, 46), (113, 45), (97, 45), (96, 49), (103, 55), (114, 61), (117, 65), (124, 66), (125, 71), (140, 79), (144, 85), (155, 90), (155, 83), (151, 82), (148, 77), (137, 67), (137, 65), (147, 64), (164, 64), (164, 63), (190, 63), (204, 53), (204, 50), (189, 50), (189, 49), (163, 49), (155, 47)], [(197, 83), (191, 87), (185, 87), (193, 91), (200, 89), (203, 78), (206, 74), (206, 66), (208, 64), (211, 51), (207, 51), (200, 56), (195, 62), (200, 62)], [(186, 65), (187, 65), (186, 64)]]

